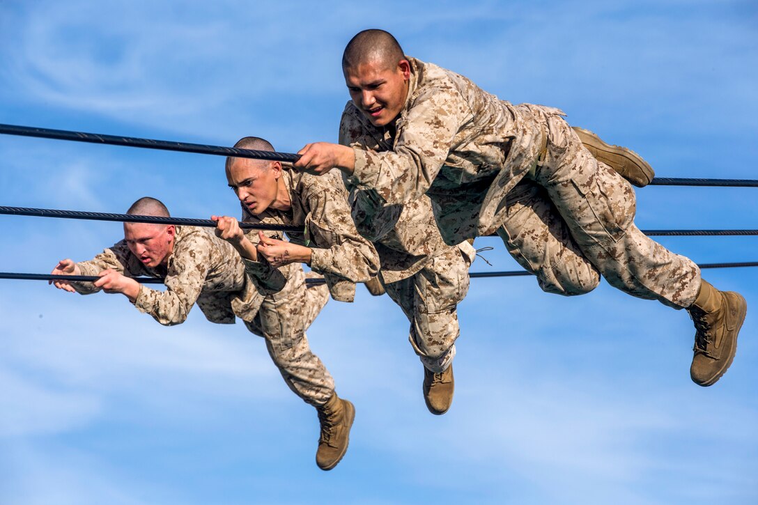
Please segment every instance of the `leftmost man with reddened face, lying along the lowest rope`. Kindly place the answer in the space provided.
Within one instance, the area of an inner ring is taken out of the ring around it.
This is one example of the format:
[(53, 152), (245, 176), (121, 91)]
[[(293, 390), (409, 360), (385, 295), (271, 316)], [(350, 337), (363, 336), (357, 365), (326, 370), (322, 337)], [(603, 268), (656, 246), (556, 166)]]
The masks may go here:
[[(127, 213), (169, 217), (165, 205), (149, 197), (134, 202)], [(122, 293), (161, 325), (184, 322), (195, 304), (211, 322), (233, 324), (239, 317), (249, 331), (265, 338), (274, 365), (302, 400), (320, 406), (334, 395), (334, 379), (305, 337), (328, 291), (324, 285), (306, 289), (299, 265), (291, 265), (283, 300), (258, 286), (245, 273), (240, 255), (208, 228), (124, 223), (124, 240), (86, 262), (61, 260), (52, 273), (99, 276), (93, 283), (54, 284), (82, 294)], [(166, 289), (150, 289), (133, 279), (137, 276), (164, 278)], [(268, 281), (285, 280), (279, 274)]]

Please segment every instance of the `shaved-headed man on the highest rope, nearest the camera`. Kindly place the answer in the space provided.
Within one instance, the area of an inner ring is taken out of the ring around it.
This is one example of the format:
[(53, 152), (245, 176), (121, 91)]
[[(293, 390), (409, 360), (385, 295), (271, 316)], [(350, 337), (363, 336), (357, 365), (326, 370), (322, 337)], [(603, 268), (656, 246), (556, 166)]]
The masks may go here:
[(351, 142), (309, 144), (295, 167), (339, 168), (381, 205), (427, 195), (446, 243), (497, 233), (545, 290), (585, 293), (602, 274), (633, 296), (687, 309), (696, 328), (691, 378), (718, 381), (734, 359), (747, 303), (634, 225), (634, 190), (622, 176), (643, 186), (649, 165), (572, 129), (559, 109), (512, 105), (401, 54), (382, 30), (349, 42), (343, 74), (352, 101), (342, 122)]

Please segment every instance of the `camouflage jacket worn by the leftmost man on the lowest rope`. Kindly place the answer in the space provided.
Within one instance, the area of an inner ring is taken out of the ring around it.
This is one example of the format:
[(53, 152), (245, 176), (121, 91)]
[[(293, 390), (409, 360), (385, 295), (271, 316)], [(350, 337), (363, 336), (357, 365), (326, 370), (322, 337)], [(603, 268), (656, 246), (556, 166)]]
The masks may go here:
[[(233, 323), (234, 315), (252, 321), (263, 302), (245, 274), (240, 255), (207, 228), (177, 226), (174, 250), (165, 267), (150, 268), (129, 250), (125, 240), (105, 249), (94, 259), (77, 263), (83, 275), (97, 275), (106, 268), (127, 277), (164, 277), (166, 290), (144, 284), (134, 306), (152, 315), (161, 325), (178, 325), (197, 303), (208, 321)], [(91, 282), (71, 283), (79, 293), (96, 293)]]

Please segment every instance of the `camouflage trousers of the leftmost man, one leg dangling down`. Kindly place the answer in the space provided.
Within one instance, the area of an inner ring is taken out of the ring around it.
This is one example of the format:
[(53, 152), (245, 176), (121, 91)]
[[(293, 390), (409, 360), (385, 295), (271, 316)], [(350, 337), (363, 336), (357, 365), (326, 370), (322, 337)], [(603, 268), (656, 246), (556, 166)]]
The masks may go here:
[(321, 406), (334, 394), (334, 379), (308, 345), (305, 329), (329, 300), (326, 284), (305, 287), (302, 268), (293, 268), (287, 284), (263, 300), (258, 314), (245, 325), (264, 337), (271, 359), (284, 381), (305, 403)]

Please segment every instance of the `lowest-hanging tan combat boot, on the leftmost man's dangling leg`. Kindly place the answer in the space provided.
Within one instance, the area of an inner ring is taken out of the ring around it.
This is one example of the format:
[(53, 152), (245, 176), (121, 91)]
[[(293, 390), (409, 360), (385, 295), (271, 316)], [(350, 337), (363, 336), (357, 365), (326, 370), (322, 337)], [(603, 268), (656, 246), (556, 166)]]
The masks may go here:
[(347, 451), (352, 420), (356, 409), (347, 400), (333, 394), (327, 403), (318, 407), (318, 421), (321, 422), (321, 437), (318, 439), (316, 464), (322, 470), (330, 470), (340, 463)]

